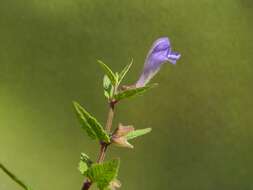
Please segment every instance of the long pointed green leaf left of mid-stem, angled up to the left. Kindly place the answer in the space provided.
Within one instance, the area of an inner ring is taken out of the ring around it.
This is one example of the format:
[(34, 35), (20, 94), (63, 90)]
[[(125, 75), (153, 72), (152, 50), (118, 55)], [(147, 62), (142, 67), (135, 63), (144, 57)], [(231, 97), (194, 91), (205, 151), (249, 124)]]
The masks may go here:
[(92, 138), (97, 138), (100, 141), (109, 143), (110, 137), (102, 127), (102, 125), (90, 115), (80, 104), (73, 102), (76, 112), (79, 116), (79, 120), (83, 128), (86, 130), (88, 135)]

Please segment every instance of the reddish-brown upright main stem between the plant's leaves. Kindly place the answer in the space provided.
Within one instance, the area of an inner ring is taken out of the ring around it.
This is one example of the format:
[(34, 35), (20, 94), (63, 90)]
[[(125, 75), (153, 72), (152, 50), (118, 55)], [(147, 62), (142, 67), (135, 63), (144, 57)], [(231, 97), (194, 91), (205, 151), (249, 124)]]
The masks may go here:
[[(107, 122), (106, 122), (106, 126), (105, 126), (105, 130), (110, 133), (111, 128), (112, 128), (112, 121), (113, 121), (113, 117), (114, 117), (114, 105), (115, 102), (110, 102), (110, 107), (109, 107), (109, 112), (108, 112), (108, 117), (107, 117)], [(97, 159), (97, 163), (101, 163), (104, 161), (105, 159), (105, 154), (106, 154), (106, 150), (109, 144), (106, 144), (104, 142), (100, 143), (100, 152), (99, 152), (99, 156)], [(83, 183), (83, 187), (82, 190), (88, 190), (90, 188), (90, 186), (92, 185), (92, 182), (90, 180), (86, 180)]]

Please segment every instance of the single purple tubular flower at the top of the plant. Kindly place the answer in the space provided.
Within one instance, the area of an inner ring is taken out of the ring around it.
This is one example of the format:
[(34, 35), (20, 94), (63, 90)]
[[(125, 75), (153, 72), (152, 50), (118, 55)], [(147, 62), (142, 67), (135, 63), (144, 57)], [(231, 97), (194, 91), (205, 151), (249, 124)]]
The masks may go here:
[(171, 50), (169, 38), (163, 37), (156, 40), (146, 57), (144, 68), (136, 87), (145, 86), (160, 70), (165, 62), (176, 64), (180, 54)]

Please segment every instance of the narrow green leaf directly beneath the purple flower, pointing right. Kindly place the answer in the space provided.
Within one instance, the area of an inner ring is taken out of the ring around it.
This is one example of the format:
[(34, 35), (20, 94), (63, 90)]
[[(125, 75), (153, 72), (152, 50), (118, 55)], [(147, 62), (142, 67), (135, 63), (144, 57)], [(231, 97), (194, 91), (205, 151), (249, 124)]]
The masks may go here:
[(116, 94), (116, 95), (114, 96), (114, 99), (115, 99), (116, 101), (119, 101), (119, 100), (122, 100), (122, 99), (131, 98), (131, 97), (134, 97), (134, 96), (137, 96), (137, 95), (142, 95), (142, 94), (144, 94), (148, 89), (154, 87), (155, 85), (156, 85), (156, 84), (147, 85), (147, 86), (140, 87), (140, 88), (131, 88), (131, 89), (122, 91), (122, 92)]

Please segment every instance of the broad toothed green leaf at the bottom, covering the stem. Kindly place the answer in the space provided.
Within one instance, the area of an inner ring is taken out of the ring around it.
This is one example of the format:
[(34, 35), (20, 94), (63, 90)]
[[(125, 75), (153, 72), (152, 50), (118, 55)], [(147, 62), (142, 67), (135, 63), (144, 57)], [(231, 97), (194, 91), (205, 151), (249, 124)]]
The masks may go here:
[(100, 164), (93, 164), (86, 172), (86, 176), (92, 182), (97, 183), (100, 190), (105, 190), (109, 186), (110, 182), (116, 179), (119, 164), (119, 159)]

